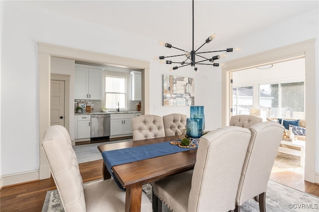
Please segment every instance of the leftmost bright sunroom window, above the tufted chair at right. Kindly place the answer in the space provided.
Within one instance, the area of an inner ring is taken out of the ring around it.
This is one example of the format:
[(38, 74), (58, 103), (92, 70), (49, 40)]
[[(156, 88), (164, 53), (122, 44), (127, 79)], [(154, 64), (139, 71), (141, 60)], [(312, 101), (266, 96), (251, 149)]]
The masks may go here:
[(253, 87), (233, 88), (233, 115), (247, 114), (253, 107)]

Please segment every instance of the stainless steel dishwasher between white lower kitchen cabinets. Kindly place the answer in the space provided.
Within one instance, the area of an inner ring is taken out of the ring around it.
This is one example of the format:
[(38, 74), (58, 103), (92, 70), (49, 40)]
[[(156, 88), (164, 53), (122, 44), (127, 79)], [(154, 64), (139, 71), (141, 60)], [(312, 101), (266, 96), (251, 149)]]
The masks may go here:
[(91, 114), (91, 140), (110, 138), (110, 114)]

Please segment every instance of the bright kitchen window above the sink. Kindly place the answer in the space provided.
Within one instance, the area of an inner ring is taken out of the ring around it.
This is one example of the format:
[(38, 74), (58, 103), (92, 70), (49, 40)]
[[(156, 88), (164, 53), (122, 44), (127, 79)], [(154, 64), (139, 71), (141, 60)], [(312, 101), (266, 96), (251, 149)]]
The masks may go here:
[(105, 107), (126, 109), (126, 77), (105, 77)]

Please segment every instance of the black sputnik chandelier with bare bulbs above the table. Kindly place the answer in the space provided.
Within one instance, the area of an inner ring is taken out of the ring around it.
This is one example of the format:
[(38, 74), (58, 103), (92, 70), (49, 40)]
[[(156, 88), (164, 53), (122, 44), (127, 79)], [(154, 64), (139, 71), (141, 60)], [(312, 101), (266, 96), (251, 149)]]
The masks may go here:
[[(217, 35), (215, 33), (212, 33), (206, 40), (205, 43), (202, 44), (197, 50), (194, 50), (194, 0), (192, 0), (193, 3), (193, 45), (192, 45), (192, 50), (191, 51), (185, 51), (183, 49), (177, 48), (172, 46), (169, 43), (165, 43), (160, 41), (160, 45), (167, 47), (167, 48), (174, 48), (174, 49), (178, 49), (180, 51), (183, 51), (183, 54), (179, 54), (179, 55), (172, 55), (172, 56), (160, 56), (160, 57), (155, 57), (154, 59), (160, 59), (160, 63), (164, 63), (164, 64), (179, 64), (180, 66), (174, 66), (170, 69), (170, 71), (176, 70), (180, 67), (184, 67), (184, 66), (192, 66), (194, 67), (194, 70), (196, 72), (198, 72), (198, 69), (196, 67), (197, 64), (200, 65), (211, 65), (211, 66), (220, 66), (220, 67), (226, 67), (225, 63), (216, 63), (215, 61), (218, 59), (225, 59), (228, 57), (227, 52), (241, 52), (241, 47), (236, 47), (236, 48), (227, 48), (225, 50), (216, 50), (216, 51), (206, 51), (206, 52), (198, 52), (198, 50), (203, 47), (206, 43), (209, 43), (210, 41), (214, 40)], [(214, 55), (214, 56), (203, 56), (203, 54), (206, 53), (214, 53), (214, 52), (224, 52), (221, 55)], [(178, 57), (178, 56), (185, 56), (184, 60), (182, 62), (173, 62), (171, 60), (164, 60), (165, 58), (171, 58), (171, 57)], [(195, 61), (197, 57), (200, 57), (200, 61)]]

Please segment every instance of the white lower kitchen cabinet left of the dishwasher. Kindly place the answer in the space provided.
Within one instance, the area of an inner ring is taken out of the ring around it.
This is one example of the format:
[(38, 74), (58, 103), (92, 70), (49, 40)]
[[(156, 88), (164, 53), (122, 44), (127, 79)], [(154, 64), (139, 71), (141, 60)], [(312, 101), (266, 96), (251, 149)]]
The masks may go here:
[(91, 115), (75, 115), (74, 139), (91, 138)]

